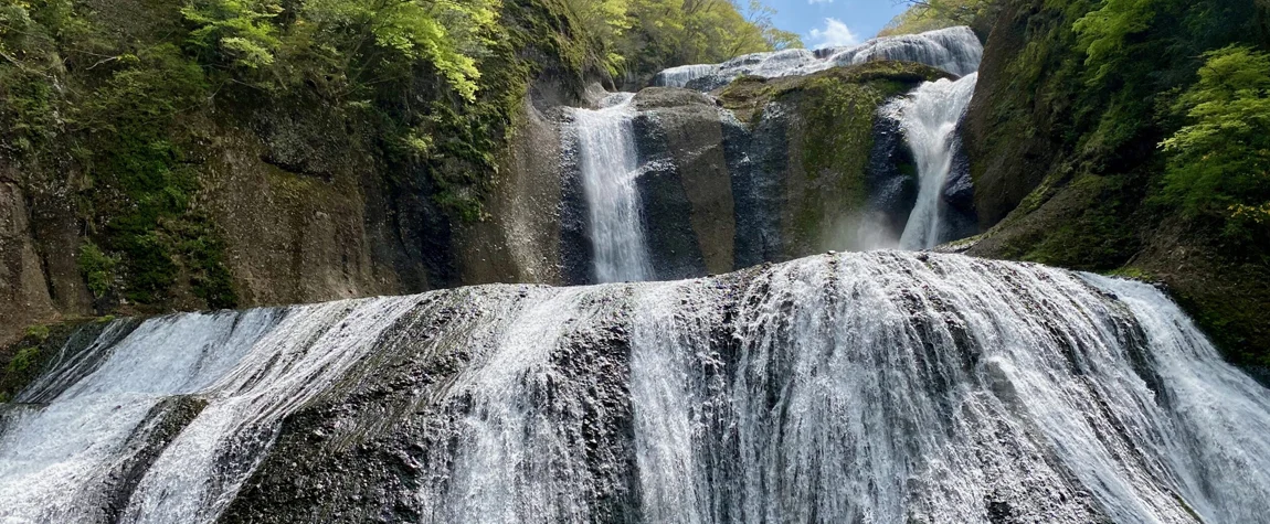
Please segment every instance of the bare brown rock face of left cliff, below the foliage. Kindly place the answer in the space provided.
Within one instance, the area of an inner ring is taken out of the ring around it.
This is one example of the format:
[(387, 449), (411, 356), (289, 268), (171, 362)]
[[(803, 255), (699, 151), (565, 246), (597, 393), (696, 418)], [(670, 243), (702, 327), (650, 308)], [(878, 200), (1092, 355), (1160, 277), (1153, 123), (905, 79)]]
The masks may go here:
[[(180, 19), (175, 8), (160, 15), (133, 4), (103, 5), (99, 15), (108, 23)], [(279, 93), (268, 103), (243, 96), (184, 112), (189, 114), (170, 131), (173, 137), (165, 137), (179, 157), (173, 169), (189, 181), (182, 188), (189, 193), (178, 212), (183, 221), (156, 219), (146, 226), (154, 231), (130, 236), (137, 250), (161, 244), (147, 255), (171, 266), (161, 282), (150, 283), (154, 289), (144, 299), (123, 287), (146, 264), (103, 242), (116, 231), (118, 209), (112, 214), (90, 202), (93, 190), (105, 193), (93, 188), (109, 173), (85, 173), (64, 148), (20, 156), (5, 145), (0, 345), (30, 325), (108, 313), (304, 303), (464, 283), (563, 282), (559, 115), (549, 108), (579, 104), (587, 72), (568, 55), (575, 42), (561, 9), (551, 0), (504, 5), (500, 20), (517, 44), (500, 48), (500, 60), (483, 74), (504, 79), (498, 89), (518, 109), (494, 124), (507, 126), (505, 133), (481, 128), (442, 137), (443, 146), (458, 143), (458, 152), (442, 160), (403, 161), (395, 145), (380, 140), (377, 123), (358, 119), (357, 112), (315, 110), (314, 96), (320, 95), (307, 90)], [(157, 41), (168, 33), (157, 28), (135, 37)], [(428, 82), (441, 82), (438, 76), (418, 75), (411, 80), (420, 93), (438, 91), (428, 89)], [(55, 141), (62, 142), (74, 141)], [(476, 173), (486, 166), (497, 167), (497, 175)], [(464, 188), (442, 188), (447, 176), (493, 178), (483, 188), (483, 216), (465, 218), (455, 211), (451, 200)], [(83, 259), (81, 250), (95, 247), (91, 242), (102, 245), (99, 258)], [(199, 259), (206, 254), (215, 259)], [(210, 266), (220, 273), (208, 275)], [(211, 278), (222, 284), (215, 288), (221, 296), (210, 296), (202, 280)]]

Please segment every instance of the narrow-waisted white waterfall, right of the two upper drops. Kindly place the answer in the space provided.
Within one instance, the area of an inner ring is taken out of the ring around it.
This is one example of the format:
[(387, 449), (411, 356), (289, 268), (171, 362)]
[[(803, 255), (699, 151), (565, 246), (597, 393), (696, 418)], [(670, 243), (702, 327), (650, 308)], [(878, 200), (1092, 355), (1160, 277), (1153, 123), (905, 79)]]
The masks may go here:
[(956, 240), (944, 237), (940, 228), (942, 195), (956, 154), (958, 123), (970, 105), (978, 79), (974, 72), (956, 81), (926, 82), (881, 109), (899, 119), (917, 160), (917, 203), (899, 240), (903, 249), (922, 250)]

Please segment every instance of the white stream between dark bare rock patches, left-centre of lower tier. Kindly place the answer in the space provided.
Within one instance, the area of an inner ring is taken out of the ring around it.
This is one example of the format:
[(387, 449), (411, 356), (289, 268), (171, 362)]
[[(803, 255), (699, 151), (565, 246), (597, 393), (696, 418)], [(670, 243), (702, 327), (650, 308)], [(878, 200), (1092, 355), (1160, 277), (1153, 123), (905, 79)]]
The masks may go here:
[(418, 500), (434, 523), (584, 523), (587, 508), (569, 491), (585, 483), (570, 458), (566, 422), (536, 405), (551, 387), (551, 354), (570, 325), (588, 324), (587, 288), (563, 289), (528, 305), (505, 326), (493, 351), (458, 378), (446, 402), (470, 405), (457, 453), (428, 464), (452, 467), (446, 482)]

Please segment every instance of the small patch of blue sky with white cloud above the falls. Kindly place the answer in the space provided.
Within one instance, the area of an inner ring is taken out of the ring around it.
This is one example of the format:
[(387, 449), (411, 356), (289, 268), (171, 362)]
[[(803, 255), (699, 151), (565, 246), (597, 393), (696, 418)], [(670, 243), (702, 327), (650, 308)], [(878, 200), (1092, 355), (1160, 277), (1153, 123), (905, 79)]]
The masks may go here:
[(895, 0), (763, 1), (776, 8), (776, 27), (798, 33), (809, 48), (864, 42), (904, 11)]

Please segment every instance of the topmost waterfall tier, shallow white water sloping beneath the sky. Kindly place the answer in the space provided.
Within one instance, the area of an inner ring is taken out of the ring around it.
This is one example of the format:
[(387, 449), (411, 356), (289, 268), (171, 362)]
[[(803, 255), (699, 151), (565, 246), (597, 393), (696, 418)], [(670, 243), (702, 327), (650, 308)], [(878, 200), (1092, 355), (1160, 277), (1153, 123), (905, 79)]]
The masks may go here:
[(743, 75), (768, 79), (809, 75), (829, 67), (878, 60), (918, 62), (963, 76), (977, 71), (982, 57), (983, 44), (979, 37), (968, 27), (955, 27), (921, 34), (874, 38), (852, 47), (785, 49), (745, 55), (723, 63), (671, 67), (657, 74), (653, 85), (710, 91)]

